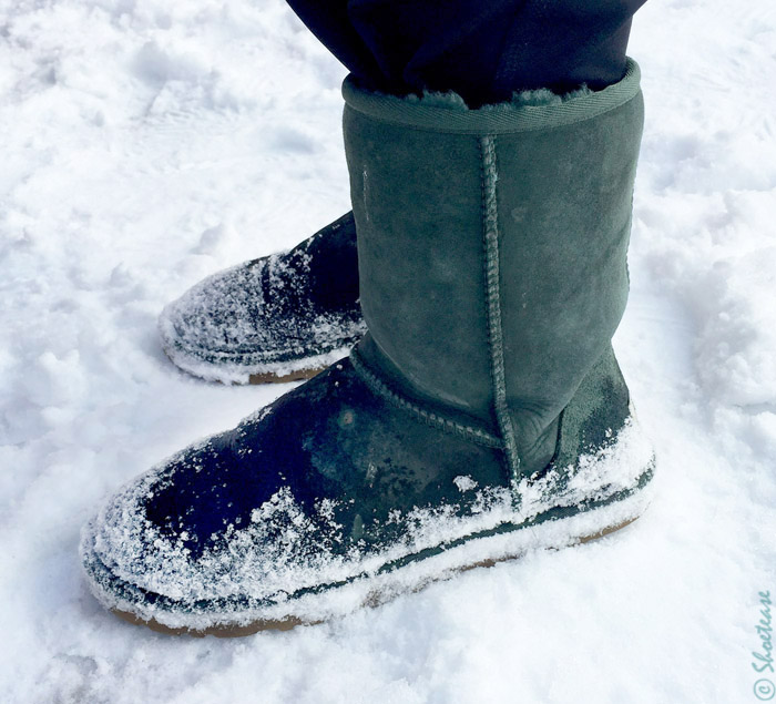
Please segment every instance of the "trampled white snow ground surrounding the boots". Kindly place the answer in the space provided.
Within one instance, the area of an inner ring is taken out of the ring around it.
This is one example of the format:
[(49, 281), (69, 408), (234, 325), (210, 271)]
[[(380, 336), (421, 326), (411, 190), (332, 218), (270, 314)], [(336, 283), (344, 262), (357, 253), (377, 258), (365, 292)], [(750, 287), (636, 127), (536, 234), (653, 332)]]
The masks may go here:
[[(776, 10), (651, 0), (616, 337), (658, 493), (596, 543), (339, 622), (169, 637), (104, 613), (100, 499), (284, 387), (177, 373), (155, 317), (348, 210), (344, 70), (280, 0), (0, 6), (0, 701), (756, 702), (776, 595)], [(161, 9), (160, 9), (161, 8)], [(762, 650), (762, 649), (760, 649)]]

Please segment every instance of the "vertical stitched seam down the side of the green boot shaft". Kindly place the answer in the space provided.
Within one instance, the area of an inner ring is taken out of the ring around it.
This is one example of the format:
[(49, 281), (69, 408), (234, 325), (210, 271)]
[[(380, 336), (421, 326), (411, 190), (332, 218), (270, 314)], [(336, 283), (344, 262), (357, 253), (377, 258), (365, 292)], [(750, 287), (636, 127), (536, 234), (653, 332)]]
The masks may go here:
[(499, 217), (496, 197), (498, 170), (496, 164), (496, 137), (480, 137), (482, 156), (482, 229), (486, 266), (486, 302), (488, 314), (488, 347), (493, 384), (493, 411), (501, 431), (508, 469), (518, 481), (520, 457), (514, 426), (507, 405), (507, 377), (504, 373), (503, 330), (501, 327), (501, 297), (499, 280)]

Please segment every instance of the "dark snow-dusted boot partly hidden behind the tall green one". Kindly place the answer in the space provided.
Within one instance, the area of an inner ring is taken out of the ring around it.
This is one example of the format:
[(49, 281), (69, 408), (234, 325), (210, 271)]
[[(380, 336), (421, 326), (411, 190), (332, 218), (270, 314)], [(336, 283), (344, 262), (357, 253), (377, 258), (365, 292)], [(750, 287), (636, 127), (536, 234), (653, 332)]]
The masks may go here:
[(308, 379), (366, 327), (353, 213), (290, 252), (218, 272), (167, 305), (162, 346), (181, 369), (224, 384)]

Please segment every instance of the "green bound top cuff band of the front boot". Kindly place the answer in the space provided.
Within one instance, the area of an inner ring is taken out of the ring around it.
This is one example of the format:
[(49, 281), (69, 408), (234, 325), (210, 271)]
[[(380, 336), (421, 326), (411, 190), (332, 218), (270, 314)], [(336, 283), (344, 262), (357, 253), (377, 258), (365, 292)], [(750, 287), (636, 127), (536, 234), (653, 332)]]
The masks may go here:
[(460, 104), (451, 108), (428, 105), (417, 98), (409, 100), (368, 91), (360, 88), (353, 76), (345, 79), (343, 96), (353, 110), (406, 127), (459, 134), (509, 134), (560, 127), (596, 118), (633, 100), (640, 93), (640, 80), (639, 64), (629, 58), (625, 75), (617, 83), (547, 105), (507, 102), (478, 110)]

